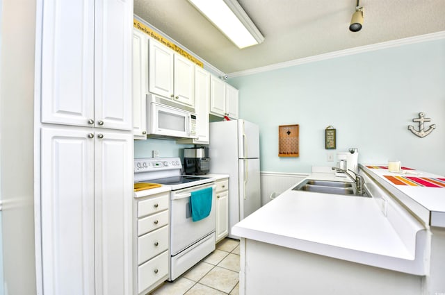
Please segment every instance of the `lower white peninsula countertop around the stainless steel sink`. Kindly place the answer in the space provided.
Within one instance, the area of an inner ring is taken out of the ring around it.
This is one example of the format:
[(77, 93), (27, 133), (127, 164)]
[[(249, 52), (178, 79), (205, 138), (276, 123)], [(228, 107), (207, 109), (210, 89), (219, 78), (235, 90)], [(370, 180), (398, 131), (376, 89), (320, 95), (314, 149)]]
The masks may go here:
[[(309, 179), (350, 181), (331, 174)], [(288, 189), (232, 229), (234, 235), (375, 267), (424, 275), (426, 230), (406, 243), (373, 198)], [(414, 244), (415, 247), (407, 246)]]

